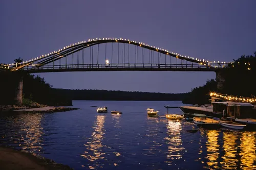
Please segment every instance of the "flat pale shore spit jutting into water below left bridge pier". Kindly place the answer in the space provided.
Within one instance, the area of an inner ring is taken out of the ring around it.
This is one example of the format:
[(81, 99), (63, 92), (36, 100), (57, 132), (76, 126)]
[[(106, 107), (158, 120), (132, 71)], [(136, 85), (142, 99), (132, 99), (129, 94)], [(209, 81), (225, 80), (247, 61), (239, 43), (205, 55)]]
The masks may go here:
[(30, 109), (17, 109), (13, 110), (14, 112), (61, 112), (61, 111), (69, 111), (69, 110), (77, 110), (77, 108), (70, 108), (70, 107), (54, 107), (54, 106), (47, 106), (47, 107), (40, 107), (40, 108), (30, 108)]

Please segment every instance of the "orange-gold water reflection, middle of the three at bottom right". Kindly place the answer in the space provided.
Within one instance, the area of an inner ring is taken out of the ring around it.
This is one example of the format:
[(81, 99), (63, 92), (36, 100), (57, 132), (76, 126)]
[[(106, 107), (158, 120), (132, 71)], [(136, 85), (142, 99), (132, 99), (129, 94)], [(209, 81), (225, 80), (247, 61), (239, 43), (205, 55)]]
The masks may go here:
[(223, 132), (224, 156), (222, 156), (223, 161), (220, 163), (224, 169), (236, 169), (238, 166), (238, 159), (236, 158), (238, 135), (238, 132)]

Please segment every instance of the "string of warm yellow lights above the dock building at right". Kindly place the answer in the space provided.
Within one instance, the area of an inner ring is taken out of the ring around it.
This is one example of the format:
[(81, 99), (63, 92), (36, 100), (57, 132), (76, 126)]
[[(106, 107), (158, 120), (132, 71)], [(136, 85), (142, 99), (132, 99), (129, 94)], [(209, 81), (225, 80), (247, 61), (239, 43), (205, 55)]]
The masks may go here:
[(246, 98), (243, 96), (234, 96), (234, 95), (228, 95), (228, 94), (221, 94), (217, 92), (211, 92), (210, 96), (215, 96), (216, 98), (222, 98), (226, 101), (233, 101), (233, 102), (246, 102), (246, 103), (254, 103), (256, 102), (255, 98)]

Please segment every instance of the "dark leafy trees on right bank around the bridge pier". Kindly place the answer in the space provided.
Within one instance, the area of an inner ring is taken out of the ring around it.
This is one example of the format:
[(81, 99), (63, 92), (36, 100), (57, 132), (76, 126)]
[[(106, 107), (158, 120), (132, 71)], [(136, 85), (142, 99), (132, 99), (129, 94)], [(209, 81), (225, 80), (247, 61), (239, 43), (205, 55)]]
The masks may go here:
[(223, 94), (231, 94), (255, 98), (256, 96), (256, 52), (254, 56), (241, 56), (233, 60), (228, 67), (222, 69), (225, 78), (224, 88), (217, 90), (217, 83), (211, 79), (204, 86), (196, 87), (189, 92), (183, 103), (206, 104), (209, 103), (209, 92), (218, 91)]

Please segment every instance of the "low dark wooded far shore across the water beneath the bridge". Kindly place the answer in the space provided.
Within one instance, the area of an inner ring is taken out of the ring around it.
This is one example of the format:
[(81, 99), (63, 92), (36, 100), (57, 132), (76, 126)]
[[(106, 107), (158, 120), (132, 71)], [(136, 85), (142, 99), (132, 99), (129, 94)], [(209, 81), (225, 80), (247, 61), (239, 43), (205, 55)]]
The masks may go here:
[(71, 89), (54, 89), (54, 91), (57, 94), (65, 94), (71, 100), (102, 101), (182, 101), (187, 94)]

